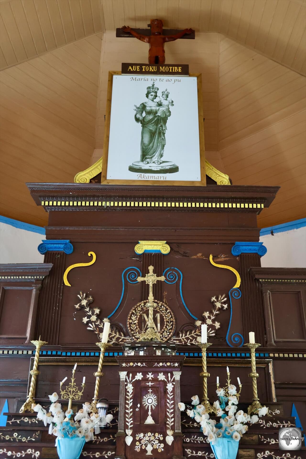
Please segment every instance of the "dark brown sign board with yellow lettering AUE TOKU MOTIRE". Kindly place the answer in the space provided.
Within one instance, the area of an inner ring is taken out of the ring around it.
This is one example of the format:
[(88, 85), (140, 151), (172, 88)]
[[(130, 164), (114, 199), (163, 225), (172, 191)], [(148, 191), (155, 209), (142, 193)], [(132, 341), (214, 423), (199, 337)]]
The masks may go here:
[(122, 62), (122, 75), (180, 75), (189, 76), (188, 64), (135, 64)]

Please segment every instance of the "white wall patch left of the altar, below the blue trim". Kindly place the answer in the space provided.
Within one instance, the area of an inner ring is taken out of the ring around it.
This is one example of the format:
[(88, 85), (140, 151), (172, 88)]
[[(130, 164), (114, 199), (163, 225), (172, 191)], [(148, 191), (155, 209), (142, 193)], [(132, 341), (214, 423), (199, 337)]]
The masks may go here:
[(37, 250), (42, 240), (43, 234), (0, 222), (0, 263), (44, 263)]

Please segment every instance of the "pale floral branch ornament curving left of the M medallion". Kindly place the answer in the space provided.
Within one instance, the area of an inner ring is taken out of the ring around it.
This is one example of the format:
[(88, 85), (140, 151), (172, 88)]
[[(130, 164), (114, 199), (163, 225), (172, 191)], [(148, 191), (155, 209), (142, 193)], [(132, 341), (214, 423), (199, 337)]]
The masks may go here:
[[(90, 308), (89, 304), (94, 301), (93, 297), (89, 295), (86, 296), (86, 293), (80, 291), (78, 298), (81, 300), (74, 305), (76, 309), (84, 308), (85, 317), (83, 317), (82, 322), (86, 325), (87, 330), (94, 331), (96, 335), (102, 338), (103, 327), (105, 322), (109, 322), (109, 319), (99, 319), (99, 314), (101, 312), (100, 308)], [(129, 336), (124, 336), (124, 334), (115, 329), (115, 327), (110, 328), (110, 333), (108, 336), (108, 343), (116, 344), (133, 341), (133, 338)]]

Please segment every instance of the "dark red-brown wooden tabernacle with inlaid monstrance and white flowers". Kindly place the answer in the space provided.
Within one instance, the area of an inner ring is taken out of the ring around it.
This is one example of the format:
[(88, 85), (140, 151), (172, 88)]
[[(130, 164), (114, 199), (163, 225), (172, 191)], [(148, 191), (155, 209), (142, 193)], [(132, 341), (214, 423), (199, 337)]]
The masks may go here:
[(118, 433), (126, 434), (124, 444), (116, 442), (116, 457), (184, 457), (178, 403), (185, 357), (175, 351), (162, 355), (166, 347), (166, 343), (151, 341), (142, 347), (144, 355), (131, 355), (129, 346), (129, 355), (116, 358), (120, 366)]

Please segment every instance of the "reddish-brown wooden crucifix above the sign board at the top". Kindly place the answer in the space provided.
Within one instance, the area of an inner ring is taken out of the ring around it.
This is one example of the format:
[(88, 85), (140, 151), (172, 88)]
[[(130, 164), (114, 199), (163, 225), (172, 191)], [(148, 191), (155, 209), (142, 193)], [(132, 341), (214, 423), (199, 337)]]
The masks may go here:
[[(149, 43), (149, 64), (164, 64), (165, 49), (164, 44), (179, 38), (195, 38), (195, 31), (191, 28), (184, 30), (163, 30), (161, 19), (151, 19), (149, 29), (131, 29), (123, 26), (116, 29), (116, 37), (135, 37), (145, 43)], [(122, 31), (124, 33), (122, 33)], [(187, 35), (188, 36), (187, 36)]]

